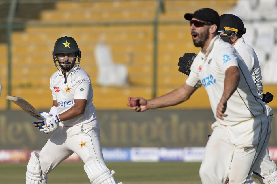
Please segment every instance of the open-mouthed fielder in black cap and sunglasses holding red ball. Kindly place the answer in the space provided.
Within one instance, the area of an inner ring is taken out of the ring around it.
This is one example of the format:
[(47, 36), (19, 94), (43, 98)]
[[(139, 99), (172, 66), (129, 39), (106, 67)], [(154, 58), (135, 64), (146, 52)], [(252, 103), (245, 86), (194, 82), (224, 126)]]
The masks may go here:
[[(204, 184), (242, 184), (250, 177), (269, 141), (271, 127), (265, 104), (257, 95), (251, 74), (233, 46), (217, 36), (220, 19), (210, 8), (185, 14), (191, 35), (201, 51), (191, 65), (186, 83), (158, 98), (134, 98), (132, 110), (173, 106), (189, 99), (203, 85), (216, 122), (200, 168)], [(131, 104), (128, 103), (128, 106)]]

